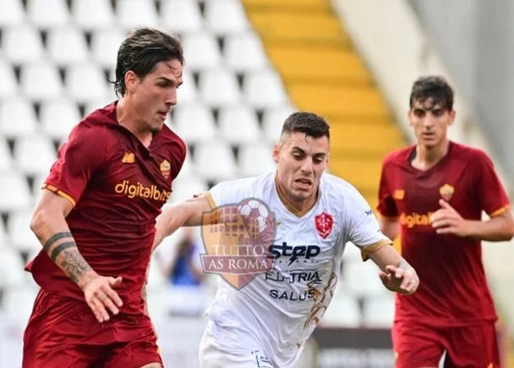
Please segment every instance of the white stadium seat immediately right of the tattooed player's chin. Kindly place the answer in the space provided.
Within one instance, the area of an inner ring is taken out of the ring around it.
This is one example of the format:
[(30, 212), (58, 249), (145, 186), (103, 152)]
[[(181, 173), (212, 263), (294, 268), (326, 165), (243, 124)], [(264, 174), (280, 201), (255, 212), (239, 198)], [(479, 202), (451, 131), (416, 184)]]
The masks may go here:
[(216, 125), (210, 108), (202, 104), (182, 104), (173, 114), (176, 133), (187, 143), (212, 141)]

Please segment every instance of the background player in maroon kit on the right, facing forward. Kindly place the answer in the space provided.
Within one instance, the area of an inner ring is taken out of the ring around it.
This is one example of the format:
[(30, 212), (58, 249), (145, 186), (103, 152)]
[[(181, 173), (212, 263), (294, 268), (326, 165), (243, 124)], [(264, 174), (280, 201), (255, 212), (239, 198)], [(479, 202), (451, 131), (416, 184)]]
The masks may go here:
[(396, 297), (400, 368), (437, 367), (444, 351), (445, 367), (500, 367), (480, 240), (510, 240), (514, 222), (491, 159), (448, 139), (453, 102), (443, 78), (416, 80), (408, 119), (417, 142), (389, 154), (382, 167), (382, 231), (391, 239), (401, 231), (402, 255), (420, 281), (414, 295)]

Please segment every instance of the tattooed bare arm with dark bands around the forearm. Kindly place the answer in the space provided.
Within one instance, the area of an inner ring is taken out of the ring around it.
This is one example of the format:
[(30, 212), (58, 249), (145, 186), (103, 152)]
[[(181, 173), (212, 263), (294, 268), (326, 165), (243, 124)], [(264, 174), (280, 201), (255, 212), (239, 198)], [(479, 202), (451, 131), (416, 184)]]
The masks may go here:
[(118, 307), (122, 306), (117, 292), (112, 290), (121, 283), (121, 277), (102, 277), (84, 260), (65, 220), (72, 208), (66, 198), (43, 190), (30, 228), (51, 260), (84, 292), (86, 302), (98, 321), (107, 321), (109, 314), (106, 308), (118, 314)]

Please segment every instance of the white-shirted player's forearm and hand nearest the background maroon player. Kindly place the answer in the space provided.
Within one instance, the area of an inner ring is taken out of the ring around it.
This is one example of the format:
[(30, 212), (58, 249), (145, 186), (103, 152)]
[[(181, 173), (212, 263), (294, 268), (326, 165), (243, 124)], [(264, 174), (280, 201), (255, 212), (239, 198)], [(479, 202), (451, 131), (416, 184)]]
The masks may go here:
[(380, 268), (382, 284), (391, 291), (413, 294), (419, 286), (415, 269), (392, 246), (382, 246), (369, 254)]

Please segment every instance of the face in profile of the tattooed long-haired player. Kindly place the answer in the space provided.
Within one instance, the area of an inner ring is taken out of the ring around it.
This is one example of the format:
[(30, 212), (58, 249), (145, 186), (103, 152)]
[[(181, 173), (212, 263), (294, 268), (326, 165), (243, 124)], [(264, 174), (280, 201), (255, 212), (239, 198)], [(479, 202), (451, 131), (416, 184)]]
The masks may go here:
[(176, 59), (158, 62), (133, 89), (133, 101), (143, 130), (157, 133), (177, 104), (177, 89), (182, 84), (182, 64)]

